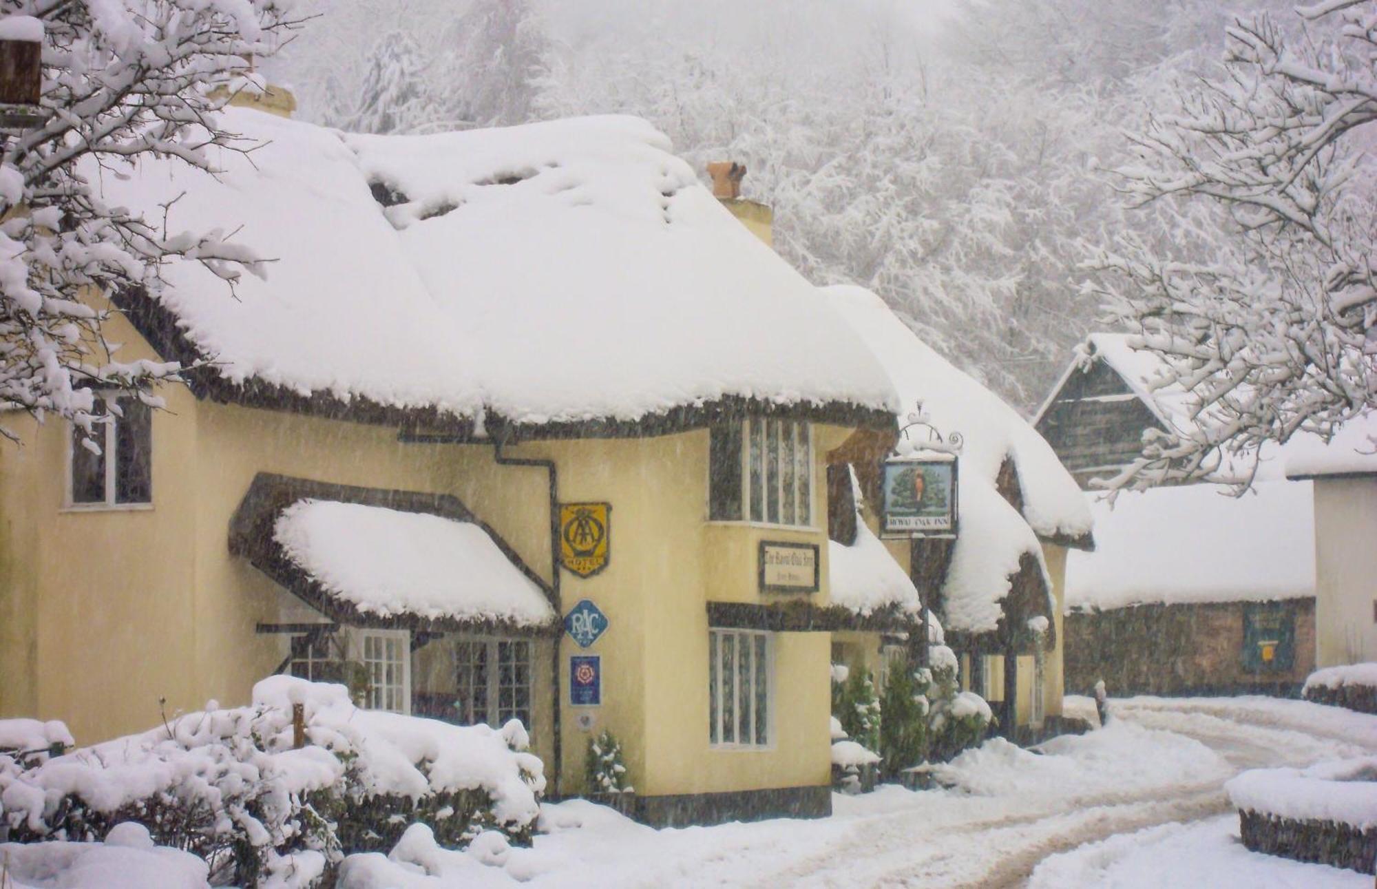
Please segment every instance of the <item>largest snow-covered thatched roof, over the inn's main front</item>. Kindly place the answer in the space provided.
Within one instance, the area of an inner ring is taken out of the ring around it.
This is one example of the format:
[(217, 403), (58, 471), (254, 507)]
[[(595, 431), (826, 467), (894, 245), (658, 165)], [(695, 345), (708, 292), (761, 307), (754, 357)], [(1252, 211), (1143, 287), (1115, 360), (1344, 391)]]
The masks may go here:
[(237, 299), (165, 268), (160, 306), (222, 383), (479, 425), (896, 407), (826, 300), (642, 120), (354, 136), (229, 109), (224, 128), (267, 144), (223, 151), (219, 182), (161, 161), (105, 179), (154, 219), (185, 193), (169, 230), (242, 226), (273, 260)]

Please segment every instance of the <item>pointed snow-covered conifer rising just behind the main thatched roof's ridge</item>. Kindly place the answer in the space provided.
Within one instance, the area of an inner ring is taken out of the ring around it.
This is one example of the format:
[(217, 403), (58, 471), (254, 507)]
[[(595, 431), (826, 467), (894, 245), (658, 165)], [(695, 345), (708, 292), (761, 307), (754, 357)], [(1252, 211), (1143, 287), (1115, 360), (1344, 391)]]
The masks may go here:
[[(336, 92), (337, 81), (332, 81)], [(375, 45), (368, 74), (351, 113), (326, 122), (350, 132), (412, 132), (435, 125), (445, 111), (435, 95), (420, 47), (405, 32), (394, 30)]]

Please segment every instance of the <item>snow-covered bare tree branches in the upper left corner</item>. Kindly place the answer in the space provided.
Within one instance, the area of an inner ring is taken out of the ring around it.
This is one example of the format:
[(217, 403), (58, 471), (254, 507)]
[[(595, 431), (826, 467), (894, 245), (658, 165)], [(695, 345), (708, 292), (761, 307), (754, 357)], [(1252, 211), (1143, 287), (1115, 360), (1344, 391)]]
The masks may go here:
[[(135, 388), (175, 365), (116, 362), (107, 294), (157, 290), (172, 256), (230, 286), (256, 257), (224, 230), (175, 233), (107, 205), (99, 178), (142, 156), (212, 171), (211, 149), (245, 150), (216, 122), (233, 89), (256, 89), (251, 59), (293, 26), (281, 0), (4, 0), (43, 25), (41, 109), (0, 153), (0, 416), (54, 413), (91, 429), (92, 385)], [(226, 299), (230, 299), (229, 292)], [(15, 438), (0, 424), (0, 435)]]

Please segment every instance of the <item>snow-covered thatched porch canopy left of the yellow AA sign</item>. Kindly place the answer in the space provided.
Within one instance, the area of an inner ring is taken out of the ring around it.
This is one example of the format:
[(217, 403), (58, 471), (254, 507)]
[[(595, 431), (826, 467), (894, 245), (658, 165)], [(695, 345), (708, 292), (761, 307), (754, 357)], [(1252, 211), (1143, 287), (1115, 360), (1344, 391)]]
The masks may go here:
[(549, 589), (445, 494), (259, 475), (230, 550), (354, 626), (549, 632)]

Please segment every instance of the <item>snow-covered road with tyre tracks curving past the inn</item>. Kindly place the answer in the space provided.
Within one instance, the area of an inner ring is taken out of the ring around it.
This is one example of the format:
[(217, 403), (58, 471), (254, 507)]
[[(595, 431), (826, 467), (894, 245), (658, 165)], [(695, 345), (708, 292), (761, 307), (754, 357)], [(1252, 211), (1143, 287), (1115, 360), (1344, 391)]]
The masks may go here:
[[(1107, 728), (1041, 753), (987, 742), (940, 768), (952, 790), (836, 795), (829, 819), (651, 830), (571, 801), (547, 806), (534, 848), (505, 852), (490, 861), (498, 867), (452, 853), (456, 871), (402, 882), (387, 866), (387, 881), (357, 885), (947, 889), (1031, 879), (1060, 889), (1131, 864), (1153, 881), (1144, 885), (1370, 888), (1370, 877), (1243, 850), (1223, 784), (1248, 768), (1377, 754), (1377, 717), (1267, 698), (1135, 698), (1115, 702), (1114, 714)], [(1173, 861), (1184, 870), (1159, 872)], [(1201, 878), (1202, 867), (1215, 875)]]

